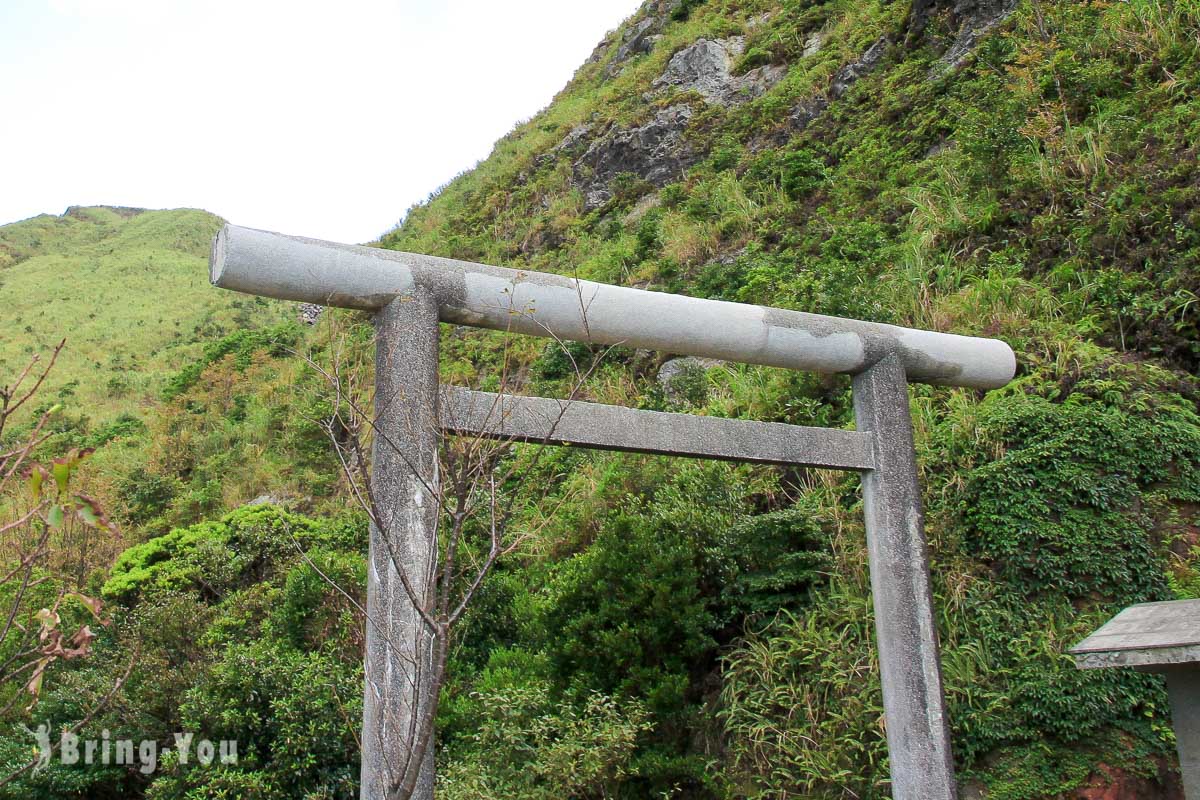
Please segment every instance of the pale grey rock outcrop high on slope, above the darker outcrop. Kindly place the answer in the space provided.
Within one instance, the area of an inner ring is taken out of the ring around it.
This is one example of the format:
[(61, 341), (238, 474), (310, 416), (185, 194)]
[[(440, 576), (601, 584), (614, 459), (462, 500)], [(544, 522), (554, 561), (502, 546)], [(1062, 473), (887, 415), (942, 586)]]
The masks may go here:
[(764, 66), (734, 76), (733, 60), (745, 52), (745, 37), (702, 38), (674, 54), (666, 71), (654, 80), (655, 89), (674, 86), (703, 95), (719, 106), (744, 103), (762, 95), (787, 73), (784, 66)]

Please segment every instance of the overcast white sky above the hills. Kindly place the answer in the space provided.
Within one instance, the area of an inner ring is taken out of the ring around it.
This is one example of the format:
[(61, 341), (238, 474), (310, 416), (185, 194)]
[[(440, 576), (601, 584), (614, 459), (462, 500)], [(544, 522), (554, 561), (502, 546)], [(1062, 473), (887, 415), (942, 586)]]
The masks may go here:
[(640, 0), (0, 0), (0, 224), (202, 207), (368, 241)]

